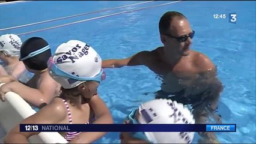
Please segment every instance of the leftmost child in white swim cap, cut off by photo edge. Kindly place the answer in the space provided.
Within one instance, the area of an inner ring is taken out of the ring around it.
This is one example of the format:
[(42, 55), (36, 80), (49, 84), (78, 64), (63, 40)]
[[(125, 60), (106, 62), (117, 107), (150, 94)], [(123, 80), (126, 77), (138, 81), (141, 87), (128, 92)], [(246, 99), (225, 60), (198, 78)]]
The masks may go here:
[(26, 70), (22, 61), (19, 61), (22, 41), (17, 35), (5, 34), (0, 37), (0, 76), (12, 75), (18, 78)]

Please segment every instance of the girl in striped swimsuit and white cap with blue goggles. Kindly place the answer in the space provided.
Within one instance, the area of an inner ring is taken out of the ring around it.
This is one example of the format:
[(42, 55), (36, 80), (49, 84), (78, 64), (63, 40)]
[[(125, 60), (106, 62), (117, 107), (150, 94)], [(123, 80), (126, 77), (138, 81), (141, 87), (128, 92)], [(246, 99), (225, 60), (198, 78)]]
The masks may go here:
[[(91, 46), (78, 40), (61, 44), (49, 59), (48, 67), (50, 76), (61, 84), (61, 94), (21, 124), (113, 123), (108, 107), (97, 94), (105, 73), (102, 70), (102, 59)], [(35, 134), (38, 132), (21, 133), (17, 125), (8, 133), (4, 142), (28, 143), (28, 137)], [(81, 143), (92, 143), (105, 132), (61, 134), (70, 143), (78, 142), (79, 137), (83, 137)]]

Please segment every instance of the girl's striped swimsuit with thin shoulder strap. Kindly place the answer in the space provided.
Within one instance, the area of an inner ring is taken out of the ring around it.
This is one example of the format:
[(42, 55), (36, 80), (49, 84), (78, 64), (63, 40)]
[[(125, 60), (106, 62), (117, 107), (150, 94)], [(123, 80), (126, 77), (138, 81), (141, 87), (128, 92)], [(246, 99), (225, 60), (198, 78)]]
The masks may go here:
[[(70, 112), (70, 109), (69, 109), (69, 105), (67, 104), (66, 100), (63, 100), (63, 102), (64, 102), (64, 104), (67, 108), (67, 115), (69, 115), (69, 124), (72, 124), (72, 116), (71, 116), (71, 112)], [(95, 118), (90, 119), (90, 121), (88, 121), (85, 124), (92, 124), (93, 121), (95, 121)], [(67, 136), (65, 137), (65, 139), (70, 142), (70, 140), (72, 140), (75, 136), (77, 136), (80, 133), (81, 132), (67, 132)]]

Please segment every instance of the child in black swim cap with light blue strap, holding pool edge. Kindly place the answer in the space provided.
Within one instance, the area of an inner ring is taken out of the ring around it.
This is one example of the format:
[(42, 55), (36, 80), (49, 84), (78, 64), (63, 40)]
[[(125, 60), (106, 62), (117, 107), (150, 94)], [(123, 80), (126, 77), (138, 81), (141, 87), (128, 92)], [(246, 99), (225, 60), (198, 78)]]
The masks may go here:
[(5, 82), (0, 88), (1, 100), (4, 101), (5, 93), (12, 91), (32, 106), (40, 107), (41, 104), (48, 104), (53, 97), (58, 96), (60, 85), (47, 71), (47, 61), (50, 56), (50, 46), (43, 38), (28, 38), (20, 49), (20, 60), (29, 72), (34, 73), (34, 76), (27, 83), (19, 82), (12, 76), (0, 77), (0, 81)]

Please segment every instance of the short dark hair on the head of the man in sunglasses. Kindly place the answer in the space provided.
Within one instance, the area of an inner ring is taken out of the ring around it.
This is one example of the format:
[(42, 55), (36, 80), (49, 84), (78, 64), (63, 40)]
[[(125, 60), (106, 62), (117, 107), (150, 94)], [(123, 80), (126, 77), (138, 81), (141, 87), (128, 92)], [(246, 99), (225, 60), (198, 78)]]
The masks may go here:
[(179, 17), (181, 19), (187, 19), (183, 14), (178, 11), (168, 11), (159, 20), (159, 32), (160, 34), (164, 34), (171, 26), (171, 22), (174, 17)]

